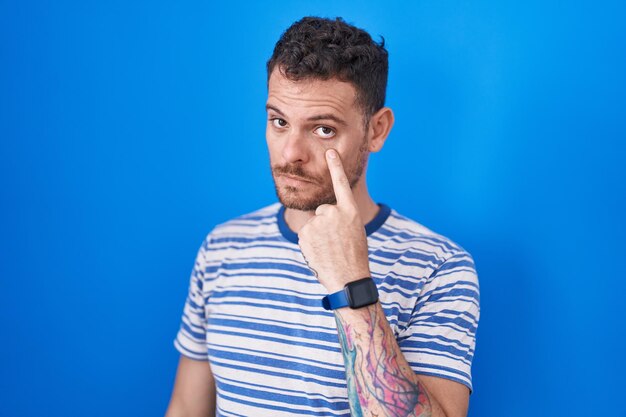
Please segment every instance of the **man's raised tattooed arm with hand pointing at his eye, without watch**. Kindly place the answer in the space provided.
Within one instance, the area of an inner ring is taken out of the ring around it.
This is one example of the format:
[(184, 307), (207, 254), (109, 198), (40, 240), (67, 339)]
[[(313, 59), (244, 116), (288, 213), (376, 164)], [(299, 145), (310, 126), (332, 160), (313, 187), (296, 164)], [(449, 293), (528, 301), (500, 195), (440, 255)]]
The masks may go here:
[[(341, 159), (326, 161), (337, 198), (299, 231), (302, 253), (329, 293), (370, 276), (367, 237)], [(379, 302), (335, 311), (353, 416), (462, 417), (469, 390), (457, 382), (417, 375), (400, 351)]]

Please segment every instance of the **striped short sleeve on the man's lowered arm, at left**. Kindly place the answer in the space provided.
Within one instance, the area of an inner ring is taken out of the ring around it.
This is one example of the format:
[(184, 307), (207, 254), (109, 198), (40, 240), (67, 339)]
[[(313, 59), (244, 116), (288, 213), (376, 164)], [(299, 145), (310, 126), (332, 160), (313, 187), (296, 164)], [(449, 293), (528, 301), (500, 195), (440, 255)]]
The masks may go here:
[(208, 238), (198, 250), (189, 280), (189, 293), (185, 301), (180, 329), (174, 346), (182, 354), (195, 360), (207, 360), (206, 317), (204, 310), (204, 274)]

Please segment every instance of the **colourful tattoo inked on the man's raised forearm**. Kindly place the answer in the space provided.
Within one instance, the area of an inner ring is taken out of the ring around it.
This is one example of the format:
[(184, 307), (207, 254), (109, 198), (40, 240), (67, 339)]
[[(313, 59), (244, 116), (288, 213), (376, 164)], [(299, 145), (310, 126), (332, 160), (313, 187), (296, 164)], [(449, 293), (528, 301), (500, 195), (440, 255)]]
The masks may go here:
[(367, 325), (335, 318), (346, 365), (352, 416), (430, 416), (430, 399), (404, 359), (380, 305), (368, 308)]

